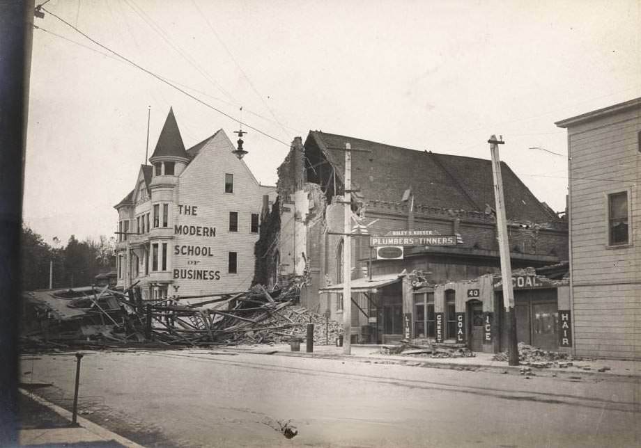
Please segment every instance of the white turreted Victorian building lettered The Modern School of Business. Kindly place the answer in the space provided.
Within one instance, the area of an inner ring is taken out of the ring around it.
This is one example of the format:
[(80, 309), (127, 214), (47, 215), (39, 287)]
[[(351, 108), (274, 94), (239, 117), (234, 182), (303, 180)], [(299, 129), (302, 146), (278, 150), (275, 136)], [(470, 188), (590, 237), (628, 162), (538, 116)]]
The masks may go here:
[(220, 129), (185, 150), (173, 110), (118, 211), (118, 287), (147, 299), (242, 291), (254, 275), (261, 186)]

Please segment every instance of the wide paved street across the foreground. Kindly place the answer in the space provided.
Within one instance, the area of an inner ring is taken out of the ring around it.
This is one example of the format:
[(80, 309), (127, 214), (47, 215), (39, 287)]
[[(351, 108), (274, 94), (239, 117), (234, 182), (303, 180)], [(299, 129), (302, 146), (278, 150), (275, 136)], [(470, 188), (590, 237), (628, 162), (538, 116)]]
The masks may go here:
[[(75, 358), (24, 357), (63, 406)], [(87, 353), (85, 415), (143, 445), (641, 447), (641, 387), (222, 351)], [(268, 423), (292, 419), (291, 440)]]

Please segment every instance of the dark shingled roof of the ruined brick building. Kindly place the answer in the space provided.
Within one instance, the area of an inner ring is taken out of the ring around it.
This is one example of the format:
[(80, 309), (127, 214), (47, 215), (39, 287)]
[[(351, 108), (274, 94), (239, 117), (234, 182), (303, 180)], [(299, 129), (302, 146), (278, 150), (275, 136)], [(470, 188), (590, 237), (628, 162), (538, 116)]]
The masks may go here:
[[(320, 148), (343, 179), (345, 143), (353, 149), (352, 183), (366, 200), (401, 202), (411, 188), (417, 205), (485, 211), (495, 208), (492, 162), (474, 157), (436, 154), (385, 145), (360, 138), (309, 131), (306, 151)], [(507, 218), (546, 222), (555, 219), (505, 163), (501, 163)]]

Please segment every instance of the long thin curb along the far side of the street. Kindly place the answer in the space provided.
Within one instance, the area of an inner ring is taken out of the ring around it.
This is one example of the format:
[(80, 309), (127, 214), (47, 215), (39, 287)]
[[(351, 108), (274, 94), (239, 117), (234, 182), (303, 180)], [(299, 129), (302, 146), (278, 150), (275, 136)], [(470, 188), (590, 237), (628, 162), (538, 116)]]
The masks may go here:
[[(569, 377), (569, 376), (580, 376), (582, 378), (568, 378), (570, 380), (576, 379), (576, 381), (580, 381), (580, 379), (585, 379), (587, 377), (591, 379), (601, 379), (601, 380), (608, 380), (608, 381), (620, 381), (623, 383), (640, 383), (641, 382), (641, 376), (639, 375), (633, 375), (633, 374), (611, 374), (608, 372), (598, 372), (598, 371), (569, 371), (566, 369), (554, 369), (554, 368), (548, 368), (548, 369), (537, 369), (536, 367), (530, 367), (530, 366), (511, 366), (511, 365), (484, 365), (484, 364), (461, 364), (458, 362), (430, 362), (428, 358), (422, 359), (422, 358), (407, 358), (407, 359), (398, 359), (398, 358), (391, 358), (391, 359), (385, 359), (385, 358), (378, 358), (376, 356), (358, 356), (358, 355), (343, 355), (343, 354), (334, 354), (334, 353), (307, 353), (303, 351), (295, 351), (295, 352), (289, 352), (289, 351), (278, 351), (278, 350), (270, 350), (270, 351), (253, 351), (252, 349), (227, 349), (229, 351), (237, 351), (237, 352), (242, 352), (242, 353), (251, 353), (254, 355), (279, 355), (279, 356), (290, 356), (290, 357), (298, 357), (298, 358), (319, 358), (319, 359), (346, 359), (346, 360), (354, 360), (357, 362), (371, 362), (372, 364), (374, 362), (381, 362), (385, 361), (388, 364), (395, 364), (395, 365), (408, 365), (411, 364), (412, 367), (427, 367), (427, 368), (432, 368), (432, 369), (449, 369), (449, 370), (458, 370), (458, 371), (470, 371), (470, 370), (482, 370), (482, 371), (491, 371), (492, 373), (497, 373), (497, 374), (519, 374), (520, 375), (520, 369), (521, 367), (526, 367), (530, 368), (530, 375), (529, 376), (534, 376), (534, 377), (552, 377), (553, 374), (556, 375), (557, 378), (565, 379), (564, 377)], [(525, 376), (528, 376), (527, 374)]]

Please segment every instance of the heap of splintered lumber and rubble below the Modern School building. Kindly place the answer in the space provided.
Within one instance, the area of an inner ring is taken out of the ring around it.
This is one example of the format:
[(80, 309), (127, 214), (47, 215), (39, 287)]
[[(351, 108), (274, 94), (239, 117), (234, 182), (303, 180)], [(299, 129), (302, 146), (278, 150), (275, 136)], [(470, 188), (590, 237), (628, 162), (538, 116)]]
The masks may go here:
[(26, 293), (23, 351), (131, 346), (265, 344), (302, 340), (314, 323), (314, 344), (334, 344), (342, 326), (298, 303), (296, 285), (267, 291), (144, 301), (141, 291), (85, 287)]

